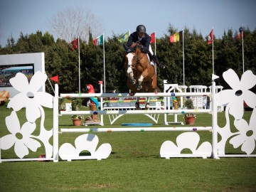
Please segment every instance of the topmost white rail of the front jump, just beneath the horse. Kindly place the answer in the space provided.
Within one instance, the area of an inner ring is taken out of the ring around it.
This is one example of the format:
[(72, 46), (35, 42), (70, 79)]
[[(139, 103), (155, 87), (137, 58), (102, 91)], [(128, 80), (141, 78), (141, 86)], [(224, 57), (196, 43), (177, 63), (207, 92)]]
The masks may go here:
[(211, 92), (60, 93), (60, 97), (188, 97), (210, 96)]

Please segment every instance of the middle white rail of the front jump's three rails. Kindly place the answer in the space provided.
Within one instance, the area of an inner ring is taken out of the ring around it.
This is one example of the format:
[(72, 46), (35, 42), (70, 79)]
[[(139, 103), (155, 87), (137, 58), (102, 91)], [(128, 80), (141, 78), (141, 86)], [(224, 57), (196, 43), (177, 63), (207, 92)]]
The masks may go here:
[(210, 113), (211, 110), (104, 110), (104, 111), (60, 111), (60, 114), (186, 114)]

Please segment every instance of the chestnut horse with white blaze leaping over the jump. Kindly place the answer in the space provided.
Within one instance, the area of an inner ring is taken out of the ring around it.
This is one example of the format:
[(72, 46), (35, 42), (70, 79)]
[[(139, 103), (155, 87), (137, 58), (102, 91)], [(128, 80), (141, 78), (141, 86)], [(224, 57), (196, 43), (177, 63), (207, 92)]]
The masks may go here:
[[(159, 92), (156, 85), (156, 69), (151, 65), (147, 53), (142, 52), (141, 43), (132, 43), (134, 52), (125, 54), (125, 70), (127, 72), (127, 86), (132, 92)], [(128, 47), (124, 45), (128, 50)], [(146, 110), (149, 109), (149, 97), (146, 99)], [(136, 109), (139, 110), (139, 97)]]

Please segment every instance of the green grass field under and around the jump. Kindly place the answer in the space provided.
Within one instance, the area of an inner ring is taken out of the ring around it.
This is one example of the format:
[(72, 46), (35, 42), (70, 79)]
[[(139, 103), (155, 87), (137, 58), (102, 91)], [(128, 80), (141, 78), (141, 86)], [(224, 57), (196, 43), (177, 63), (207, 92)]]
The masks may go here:
[[(8, 133), (4, 117), (10, 113), (6, 106), (0, 106), (1, 137)], [(21, 122), (25, 122), (24, 114), (25, 110), (18, 112)], [(45, 127), (49, 129), (53, 126), (52, 114), (52, 110), (46, 109)], [(250, 114), (245, 112), (244, 118), (250, 119)], [(224, 113), (218, 113), (218, 117), (218, 124), (225, 124)], [(178, 121), (183, 121), (181, 115)], [(142, 114), (124, 115), (114, 125), (110, 125), (105, 116), (104, 122), (104, 127), (122, 127), (124, 122), (152, 123)], [(164, 114), (160, 114), (159, 124), (154, 127), (164, 127), (163, 122)], [(197, 114), (194, 126), (210, 125), (210, 114)], [(59, 118), (59, 128), (71, 126), (68, 116)], [(0, 164), (0, 191), (256, 191), (255, 158), (161, 159), (161, 144), (166, 140), (174, 142), (178, 134), (181, 132), (97, 133), (99, 145), (110, 143), (112, 146), (112, 154), (101, 161), (3, 162)], [(201, 142), (211, 142), (211, 132), (198, 134)], [(74, 144), (79, 135), (60, 134), (59, 146), (65, 142)], [(229, 144), (226, 151), (240, 153)], [(40, 148), (26, 158), (43, 153)], [(14, 147), (1, 151), (1, 158), (16, 158)]]

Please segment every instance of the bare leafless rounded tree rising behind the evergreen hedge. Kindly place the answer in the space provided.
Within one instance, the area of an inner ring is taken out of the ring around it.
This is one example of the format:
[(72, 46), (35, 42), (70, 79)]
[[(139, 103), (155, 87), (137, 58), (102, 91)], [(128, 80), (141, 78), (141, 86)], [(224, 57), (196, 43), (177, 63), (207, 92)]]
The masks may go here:
[(95, 36), (103, 31), (101, 19), (82, 7), (71, 7), (58, 12), (48, 21), (48, 27), (55, 36), (67, 42), (78, 36), (82, 41), (88, 42), (91, 31)]

